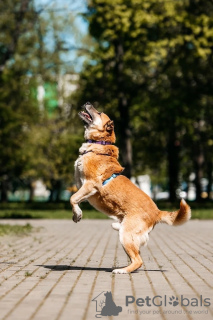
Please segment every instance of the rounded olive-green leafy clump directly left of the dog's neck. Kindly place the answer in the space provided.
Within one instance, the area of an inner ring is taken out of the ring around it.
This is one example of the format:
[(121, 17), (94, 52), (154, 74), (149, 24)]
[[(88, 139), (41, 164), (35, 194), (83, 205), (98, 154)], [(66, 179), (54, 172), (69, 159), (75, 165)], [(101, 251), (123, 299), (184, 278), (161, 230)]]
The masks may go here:
[(82, 142), (73, 122), (60, 115), (52, 118), (43, 116), (32, 127), (27, 141), (28, 149), (25, 151), (28, 162), (23, 179), (42, 177), (49, 188), (55, 181), (71, 184), (74, 161)]

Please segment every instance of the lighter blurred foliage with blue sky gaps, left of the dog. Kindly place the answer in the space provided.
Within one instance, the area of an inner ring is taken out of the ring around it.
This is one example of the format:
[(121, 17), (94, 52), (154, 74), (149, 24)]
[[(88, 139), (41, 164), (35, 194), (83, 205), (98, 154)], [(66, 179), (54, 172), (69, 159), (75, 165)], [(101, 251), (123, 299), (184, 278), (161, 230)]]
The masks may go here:
[[(71, 184), (79, 139), (73, 114), (58, 103), (70, 14), (36, 11), (33, 0), (1, 1), (0, 12), (0, 186), (7, 200), (8, 188), (32, 189), (38, 178), (49, 187)], [(43, 104), (41, 85), (49, 89)]]

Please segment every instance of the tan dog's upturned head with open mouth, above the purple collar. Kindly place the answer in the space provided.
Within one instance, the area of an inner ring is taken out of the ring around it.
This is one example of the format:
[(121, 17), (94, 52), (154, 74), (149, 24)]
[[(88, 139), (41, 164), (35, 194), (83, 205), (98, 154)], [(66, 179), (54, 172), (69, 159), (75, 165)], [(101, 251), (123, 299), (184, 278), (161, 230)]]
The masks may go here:
[(89, 102), (79, 112), (85, 123), (84, 137), (86, 140), (115, 142), (114, 123), (103, 112), (98, 112)]

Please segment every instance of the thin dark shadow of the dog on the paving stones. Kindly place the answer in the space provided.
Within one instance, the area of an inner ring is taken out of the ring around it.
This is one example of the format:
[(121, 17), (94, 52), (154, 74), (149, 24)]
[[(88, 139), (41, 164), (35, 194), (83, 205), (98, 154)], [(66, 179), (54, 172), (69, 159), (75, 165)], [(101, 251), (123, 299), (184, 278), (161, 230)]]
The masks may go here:
[[(98, 268), (98, 267), (79, 267), (79, 266), (68, 266), (68, 265), (36, 265), (37, 267), (43, 267), (46, 269), (50, 269), (52, 271), (66, 271), (66, 270), (72, 270), (72, 271), (103, 271), (103, 272), (112, 272), (113, 268)], [(123, 267), (119, 267), (123, 268)], [(162, 269), (156, 269), (156, 270), (147, 270), (147, 269), (140, 269), (136, 270), (132, 273), (141, 273), (141, 272), (166, 272), (167, 270)]]

